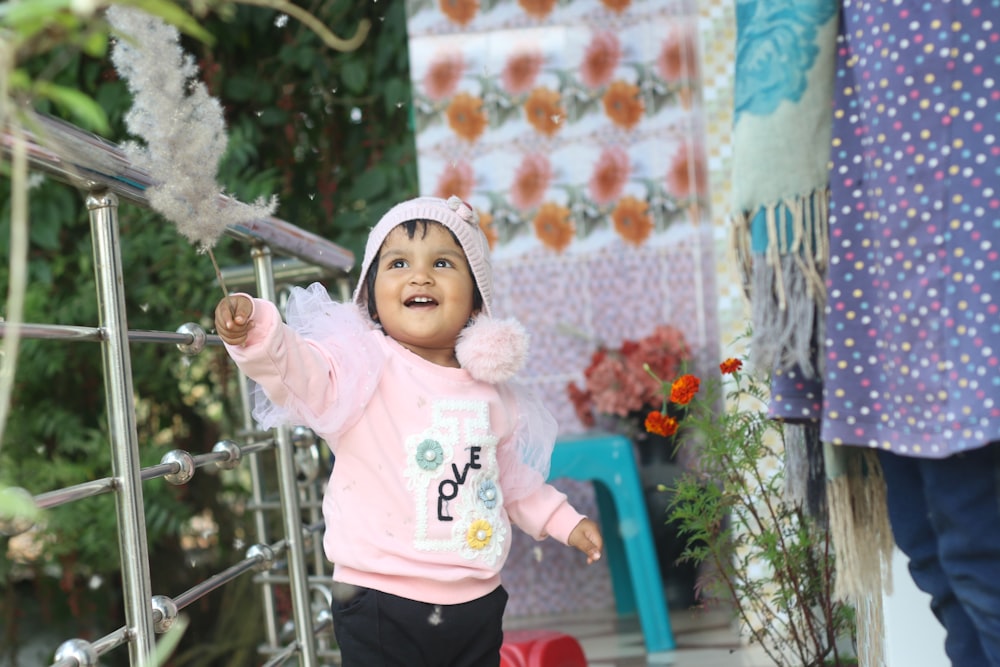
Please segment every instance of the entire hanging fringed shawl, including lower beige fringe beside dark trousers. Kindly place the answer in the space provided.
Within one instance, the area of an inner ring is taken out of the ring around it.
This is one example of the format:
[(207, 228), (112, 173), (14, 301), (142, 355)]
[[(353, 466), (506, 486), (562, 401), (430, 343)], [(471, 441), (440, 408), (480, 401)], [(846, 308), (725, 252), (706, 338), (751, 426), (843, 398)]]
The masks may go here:
[[(779, 380), (792, 375), (817, 387), (838, 7), (836, 0), (738, 0), (736, 17), (731, 222), (751, 304), (751, 360)], [(855, 604), (863, 630), (862, 665), (878, 667), (892, 539), (877, 459), (821, 444), (818, 412), (789, 419), (772, 404), (772, 414), (786, 420), (789, 490), (830, 527), (837, 593)]]

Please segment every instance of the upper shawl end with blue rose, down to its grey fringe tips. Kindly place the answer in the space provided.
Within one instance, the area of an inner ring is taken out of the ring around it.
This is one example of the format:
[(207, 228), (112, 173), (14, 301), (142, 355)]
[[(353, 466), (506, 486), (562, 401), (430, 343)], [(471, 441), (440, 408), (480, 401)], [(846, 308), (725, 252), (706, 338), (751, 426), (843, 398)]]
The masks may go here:
[(733, 240), (755, 364), (817, 369), (837, 3), (738, 2)]

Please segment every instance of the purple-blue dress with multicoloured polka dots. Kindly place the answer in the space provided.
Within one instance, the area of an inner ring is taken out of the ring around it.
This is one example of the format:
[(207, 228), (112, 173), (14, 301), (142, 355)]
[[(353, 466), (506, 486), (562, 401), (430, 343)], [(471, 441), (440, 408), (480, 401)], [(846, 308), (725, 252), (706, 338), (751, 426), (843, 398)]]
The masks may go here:
[(844, 2), (823, 439), (1000, 440), (1000, 0)]

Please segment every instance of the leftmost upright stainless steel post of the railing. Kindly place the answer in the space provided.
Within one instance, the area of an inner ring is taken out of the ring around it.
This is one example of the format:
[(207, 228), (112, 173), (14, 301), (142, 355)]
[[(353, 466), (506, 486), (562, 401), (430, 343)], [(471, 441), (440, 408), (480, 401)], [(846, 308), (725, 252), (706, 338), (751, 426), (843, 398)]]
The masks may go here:
[(94, 244), (99, 323), (103, 330), (101, 356), (120, 531), (118, 550), (125, 623), (130, 635), (129, 657), (131, 665), (146, 667), (152, 665), (154, 648), (152, 591), (125, 318), (125, 280), (118, 239), (118, 197), (108, 191), (91, 192), (87, 196), (87, 210)]

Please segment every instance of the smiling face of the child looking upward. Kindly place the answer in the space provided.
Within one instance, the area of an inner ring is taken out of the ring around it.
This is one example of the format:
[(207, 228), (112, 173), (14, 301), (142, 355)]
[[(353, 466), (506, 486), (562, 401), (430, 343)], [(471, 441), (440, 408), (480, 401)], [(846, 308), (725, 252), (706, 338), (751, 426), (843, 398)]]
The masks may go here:
[(472, 316), (474, 282), (462, 247), (442, 225), (411, 239), (396, 227), (382, 244), (375, 304), (385, 333), (441, 366), (458, 366), (455, 340)]

